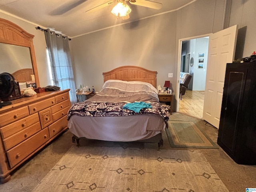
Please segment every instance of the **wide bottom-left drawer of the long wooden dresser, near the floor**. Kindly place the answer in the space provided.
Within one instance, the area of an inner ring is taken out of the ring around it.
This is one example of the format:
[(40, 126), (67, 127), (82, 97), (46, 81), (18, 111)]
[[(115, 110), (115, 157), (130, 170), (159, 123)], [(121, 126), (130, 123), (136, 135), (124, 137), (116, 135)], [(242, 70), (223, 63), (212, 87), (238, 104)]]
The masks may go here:
[(28, 138), (26, 141), (15, 146), (8, 152), (6, 152), (10, 167), (13, 168), (16, 164), (24, 160), (27, 156), (32, 154), (40, 146), (50, 139), (48, 129), (44, 129), (34, 136)]

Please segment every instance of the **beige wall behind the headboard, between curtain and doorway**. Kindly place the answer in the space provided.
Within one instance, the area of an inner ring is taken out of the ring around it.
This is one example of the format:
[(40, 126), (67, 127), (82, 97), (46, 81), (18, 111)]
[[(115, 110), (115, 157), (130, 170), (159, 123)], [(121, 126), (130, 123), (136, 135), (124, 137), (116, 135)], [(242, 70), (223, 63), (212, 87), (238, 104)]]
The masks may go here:
[[(168, 26), (168, 27), (166, 27)], [(176, 13), (157, 16), (73, 38), (71, 50), (77, 84), (102, 88), (102, 72), (123, 65), (156, 70), (164, 85), (174, 72)]]

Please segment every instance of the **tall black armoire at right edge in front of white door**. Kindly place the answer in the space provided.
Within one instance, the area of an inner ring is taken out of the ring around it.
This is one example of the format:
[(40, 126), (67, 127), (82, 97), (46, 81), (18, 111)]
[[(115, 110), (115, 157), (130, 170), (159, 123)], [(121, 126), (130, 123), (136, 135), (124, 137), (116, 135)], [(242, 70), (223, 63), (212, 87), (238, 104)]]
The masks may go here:
[(217, 143), (236, 163), (256, 165), (256, 62), (226, 66)]

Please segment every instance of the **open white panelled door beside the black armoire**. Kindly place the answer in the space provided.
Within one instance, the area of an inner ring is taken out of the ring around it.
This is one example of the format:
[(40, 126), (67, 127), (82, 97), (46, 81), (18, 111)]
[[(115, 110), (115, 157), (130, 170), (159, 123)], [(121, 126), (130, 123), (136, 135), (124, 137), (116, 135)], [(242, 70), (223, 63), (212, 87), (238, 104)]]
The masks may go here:
[(219, 128), (226, 64), (232, 63), (237, 26), (210, 34), (203, 119)]

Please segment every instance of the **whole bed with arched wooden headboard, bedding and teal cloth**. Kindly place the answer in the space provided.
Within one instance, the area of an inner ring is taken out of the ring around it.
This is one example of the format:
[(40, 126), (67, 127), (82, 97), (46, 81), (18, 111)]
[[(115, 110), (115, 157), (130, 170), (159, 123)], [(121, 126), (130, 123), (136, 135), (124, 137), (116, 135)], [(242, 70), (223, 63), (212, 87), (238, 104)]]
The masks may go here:
[[(68, 111), (72, 140), (153, 142), (163, 145), (169, 111), (158, 100), (156, 72), (138, 66), (122, 66), (104, 72), (102, 90), (78, 102)], [(138, 110), (139, 109), (139, 110)]]

